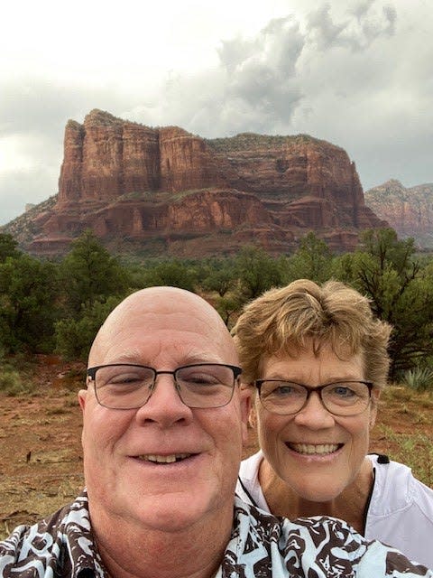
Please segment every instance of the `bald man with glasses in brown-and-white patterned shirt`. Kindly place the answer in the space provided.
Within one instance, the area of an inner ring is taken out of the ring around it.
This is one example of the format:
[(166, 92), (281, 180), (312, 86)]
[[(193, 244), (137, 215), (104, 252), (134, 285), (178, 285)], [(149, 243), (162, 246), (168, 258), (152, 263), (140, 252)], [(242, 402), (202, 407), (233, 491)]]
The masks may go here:
[(195, 294), (127, 297), (78, 394), (87, 493), (0, 543), (0, 575), (111, 578), (433, 576), (334, 519), (235, 499), (249, 394), (234, 343)]

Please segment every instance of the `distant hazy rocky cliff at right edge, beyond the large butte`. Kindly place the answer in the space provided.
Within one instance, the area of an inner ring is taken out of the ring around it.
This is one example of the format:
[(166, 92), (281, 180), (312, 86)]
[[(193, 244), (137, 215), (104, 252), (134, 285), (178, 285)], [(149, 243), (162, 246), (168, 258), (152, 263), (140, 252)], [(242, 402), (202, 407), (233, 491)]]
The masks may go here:
[(365, 203), (402, 238), (433, 247), (433, 183), (406, 188), (392, 179), (366, 191)]

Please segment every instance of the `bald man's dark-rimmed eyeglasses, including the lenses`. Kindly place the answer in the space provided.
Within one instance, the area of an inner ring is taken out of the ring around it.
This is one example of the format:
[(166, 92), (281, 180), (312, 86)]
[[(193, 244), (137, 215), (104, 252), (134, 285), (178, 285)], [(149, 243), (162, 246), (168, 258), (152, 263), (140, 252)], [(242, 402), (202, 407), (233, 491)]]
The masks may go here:
[(233, 396), (235, 380), (242, 369), (221, 363), (198, 363), (174, 371), (157, 371), (143, 365), (110, 364), (88, 368), (97, 402), (112, 409), (144, 406), (162, 374), (173, 376), (181, 401), (189, 407), (226, 406)]

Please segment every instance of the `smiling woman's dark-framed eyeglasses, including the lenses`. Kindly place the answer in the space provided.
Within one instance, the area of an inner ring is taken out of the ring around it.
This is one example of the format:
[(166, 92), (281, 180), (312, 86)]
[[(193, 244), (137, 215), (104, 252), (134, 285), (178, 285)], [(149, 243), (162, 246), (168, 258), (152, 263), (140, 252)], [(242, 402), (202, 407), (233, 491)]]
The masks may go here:
[(369, 406), (373, 383), (371, 381), (338, 381), (325, 386), (310, 387), (282, 379), (257, 379), (254, 381), (260, 401), (272, 414), (297, 414), (307, 405), (315, 392), (323, 406), (333, 415), (362, 414)]

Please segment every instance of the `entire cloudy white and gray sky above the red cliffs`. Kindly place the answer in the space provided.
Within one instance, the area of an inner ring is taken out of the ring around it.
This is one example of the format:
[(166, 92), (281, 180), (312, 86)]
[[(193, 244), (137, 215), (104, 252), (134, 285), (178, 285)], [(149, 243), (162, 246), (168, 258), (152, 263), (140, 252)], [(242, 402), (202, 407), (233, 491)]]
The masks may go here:
[(14, 0), (0, 54), (0, 224), (58, 191), (64, 127), (92, 108), (307, 133), (364, 190), (433, 182), (433, 0)]

